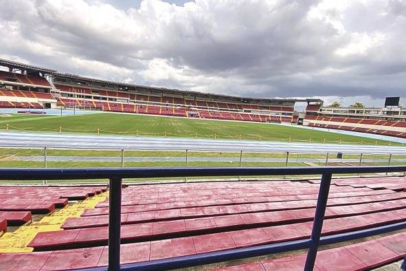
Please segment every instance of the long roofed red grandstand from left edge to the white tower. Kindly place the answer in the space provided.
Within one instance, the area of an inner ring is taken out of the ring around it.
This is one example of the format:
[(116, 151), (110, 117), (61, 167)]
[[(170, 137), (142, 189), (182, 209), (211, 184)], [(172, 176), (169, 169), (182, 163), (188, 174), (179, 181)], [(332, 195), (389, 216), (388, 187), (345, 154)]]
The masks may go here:
[[(295, 102), (115, 83), (0, 60), (0, 107), (75, 108), (185, 118), (296, 122)], [(45, 79), (45, 77), (47, 79)]]

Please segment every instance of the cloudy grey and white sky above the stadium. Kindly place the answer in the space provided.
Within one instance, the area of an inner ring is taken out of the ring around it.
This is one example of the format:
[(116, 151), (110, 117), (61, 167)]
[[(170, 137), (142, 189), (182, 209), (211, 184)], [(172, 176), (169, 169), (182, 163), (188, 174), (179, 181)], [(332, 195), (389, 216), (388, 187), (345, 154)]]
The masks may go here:
[[(406, 0), (0, 0), (0, 57), (126, 83), (406, 100)], [(406, 102), (404, 102), (405, 104)]]

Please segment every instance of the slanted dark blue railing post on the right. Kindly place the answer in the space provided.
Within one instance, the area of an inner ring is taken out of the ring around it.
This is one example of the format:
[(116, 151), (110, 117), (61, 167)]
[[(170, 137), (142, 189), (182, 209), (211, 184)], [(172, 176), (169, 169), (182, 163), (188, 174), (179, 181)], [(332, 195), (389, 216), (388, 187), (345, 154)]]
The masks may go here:
[(330, 191), (331, 176), (331, 173), (324, 173), (322, 175), (322, 182), (320, 183), (319, 188), (319, 196), (317, 197), (315, 220), (313, 221), (313, 228), (311, 233), (312, 244), (307, 252), (306, 263), (304, 264), (304, 271), (312, 271), (315, 266), (317, 249), (319, 248), (320, 242), (320, 235), (322, 235), (324, 215), (326, 213), (328, 191)]

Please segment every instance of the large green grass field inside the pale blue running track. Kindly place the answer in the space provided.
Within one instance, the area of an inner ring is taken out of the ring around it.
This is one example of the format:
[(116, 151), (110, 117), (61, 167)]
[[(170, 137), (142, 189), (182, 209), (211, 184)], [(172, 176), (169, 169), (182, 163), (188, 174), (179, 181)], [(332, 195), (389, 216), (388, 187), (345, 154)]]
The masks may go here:
[[(28, 116), (12, 114), (0, 118), (0, 128), (18, 131), (49, 131), (63, 133), (120, 134), (139, 136), (168, 136), (242, 140), (273, 140), (295, 142), (330, 142), (360, 144), (389, 144), (354, 135), (330, 133), (278, 124), (253, 122), (196, 120), (117, 113), (94, 113), (80, 116)], [(391, 142), (398, 145), (400, 143)]]

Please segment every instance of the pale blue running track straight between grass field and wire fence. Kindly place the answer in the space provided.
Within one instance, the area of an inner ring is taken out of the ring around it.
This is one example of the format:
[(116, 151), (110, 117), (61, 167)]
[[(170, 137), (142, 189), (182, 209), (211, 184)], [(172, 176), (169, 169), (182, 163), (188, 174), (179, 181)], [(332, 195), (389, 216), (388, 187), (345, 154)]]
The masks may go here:
[(210, 140), (194, 138), (143, 138), (119, 135), (67, 135), (0, 131), (2, 147), (63, 147), (98, 149), (165, 149), (207, 151), (268, 151), (290, 153), (376, 153), (406, 154), (406, 147), (319, 144), (305, 142), (267, 142)]

